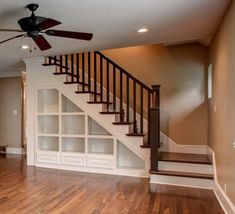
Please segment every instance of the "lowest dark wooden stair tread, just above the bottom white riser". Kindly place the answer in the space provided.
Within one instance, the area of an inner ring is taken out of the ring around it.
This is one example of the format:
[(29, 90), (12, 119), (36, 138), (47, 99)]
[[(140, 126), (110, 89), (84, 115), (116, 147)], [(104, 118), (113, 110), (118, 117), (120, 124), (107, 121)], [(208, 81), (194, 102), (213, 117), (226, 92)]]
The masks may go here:
[(211, 174), (201, 174), (201, 173), (192, 173), (192, 172), (176, 172), (176, 171), (167, 171), (167, 170), (158, 170), (150, 171), (151, 174), (155, 175), (169, 175), (169, 176), (179, 176), (187, 178), (201, 178), (201, 179), (213, 179)]

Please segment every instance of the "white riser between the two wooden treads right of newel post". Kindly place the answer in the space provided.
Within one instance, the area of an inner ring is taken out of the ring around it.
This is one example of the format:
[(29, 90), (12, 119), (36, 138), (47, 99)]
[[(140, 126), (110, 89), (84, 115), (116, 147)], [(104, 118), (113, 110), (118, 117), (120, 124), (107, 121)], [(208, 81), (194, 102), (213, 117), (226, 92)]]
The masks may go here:
[(207, 164), (191, 164), (191, 163), (159, 161), (158, 168), (159, 170), (163, 171), (192, 172), (192, 173), (213, 175), (213, 166)]

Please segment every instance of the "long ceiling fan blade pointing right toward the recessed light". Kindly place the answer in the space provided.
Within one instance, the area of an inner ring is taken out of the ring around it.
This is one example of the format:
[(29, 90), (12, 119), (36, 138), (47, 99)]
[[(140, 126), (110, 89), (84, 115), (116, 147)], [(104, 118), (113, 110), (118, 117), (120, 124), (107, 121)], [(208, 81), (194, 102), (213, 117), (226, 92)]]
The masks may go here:
[(82, 32), (73, 32), (73, 31), (63, 31), (63, 30), (47, 30), (45, 32), (49, 36), (59, 36), (72, 39), (82, 39), (82, 40), (91, 40), (93, 34), (91, 33), (82, 33)]

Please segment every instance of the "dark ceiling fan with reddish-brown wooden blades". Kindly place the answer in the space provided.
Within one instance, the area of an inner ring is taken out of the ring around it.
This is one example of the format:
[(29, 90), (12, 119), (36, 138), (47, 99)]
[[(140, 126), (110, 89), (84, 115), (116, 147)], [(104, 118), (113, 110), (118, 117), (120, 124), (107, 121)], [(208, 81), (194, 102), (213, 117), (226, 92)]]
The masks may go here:
[[(34, 12), (38, 8), (38, 4), (29, 4), (26, 6), (31, 12), (31, 16), (22, 18), (18, 21), (21, 30), (17, 29), (0, 29), (2, 32), (24, 32), (23, 34), (11, 37), (4, 41), (1, 41), (0, 44), (10, 41), (12, 39), (20, 38), (20, 37), (30, 37), (36, 43), (36, 45), (40, 48), (41, 51), (48, 50), (51, 48), (51, 45), (44, 38), (42, 34), (46, 34), (48, 36), (58, 36), (65, 38), (73, 38), (73, 39), (81, 39), (81, 40), (91, 40), (93, 34), (91, 33), (83, 33), (83, 32), (73, 32), (73, 31), (63, 31), (63, 30), (50, 30), (49, 28), (60, 25), (61, 22), (51, 19), (45, 18), (41, 16), (35, 16)], [(49, 29), (49, 30), (47, 30)]]

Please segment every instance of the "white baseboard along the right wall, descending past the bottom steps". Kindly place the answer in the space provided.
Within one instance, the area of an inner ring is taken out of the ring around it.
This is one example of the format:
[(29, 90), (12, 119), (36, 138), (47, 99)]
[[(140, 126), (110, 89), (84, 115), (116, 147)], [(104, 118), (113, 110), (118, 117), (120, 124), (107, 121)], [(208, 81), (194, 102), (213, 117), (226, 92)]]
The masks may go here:
[(233, 214), (235, 213), (235, 206), (230, 200), (230, 198), (227, 196), (227, 194), (224, 192), (222, 187), (220, 186), (218, 179), (217, 179), (217, 171), (216, 171), (216, 161), (215, 161), (215, 153), (214, 151), (208, 146), (208, 153), (212, 155), (213, 159), (213, 169), (214, 169), (214, 179), (215, 179), (215, 188), (214, 188), (214, 194), (224, 210), (226, 214)]

